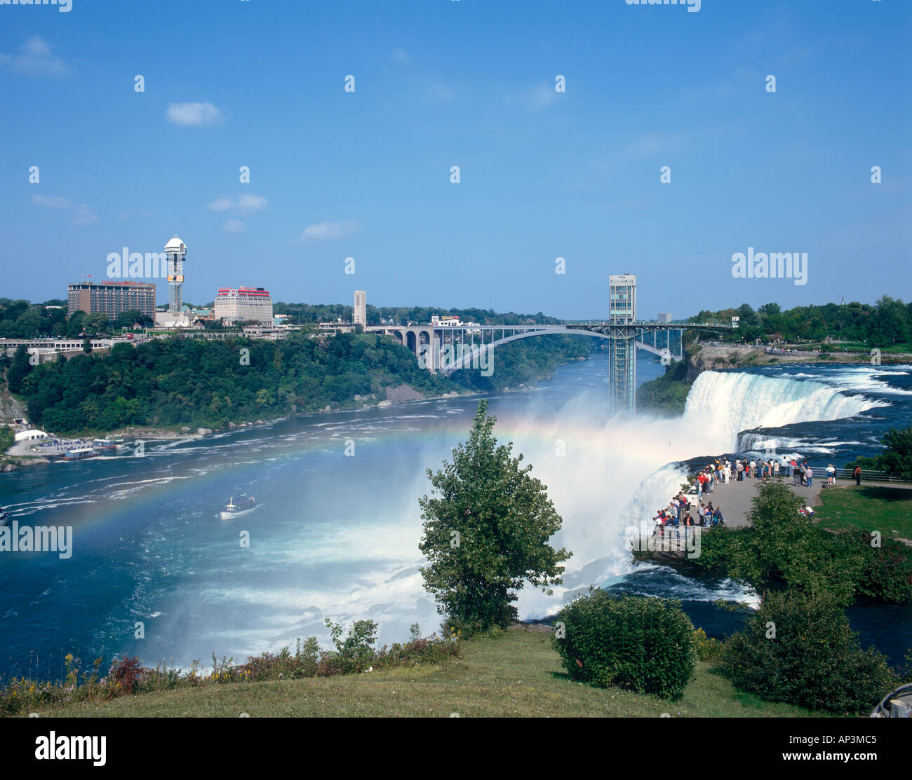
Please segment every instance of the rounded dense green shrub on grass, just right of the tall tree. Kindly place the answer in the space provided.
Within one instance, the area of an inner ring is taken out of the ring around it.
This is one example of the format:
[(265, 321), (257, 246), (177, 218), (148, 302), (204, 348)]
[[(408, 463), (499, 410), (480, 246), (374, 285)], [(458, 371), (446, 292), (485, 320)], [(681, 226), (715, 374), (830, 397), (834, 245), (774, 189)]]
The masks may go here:
[(679, 699), (696, 666), (693, 625), (679, 601), (594, 590), (566, 606), (554, 649), (574, 680)]

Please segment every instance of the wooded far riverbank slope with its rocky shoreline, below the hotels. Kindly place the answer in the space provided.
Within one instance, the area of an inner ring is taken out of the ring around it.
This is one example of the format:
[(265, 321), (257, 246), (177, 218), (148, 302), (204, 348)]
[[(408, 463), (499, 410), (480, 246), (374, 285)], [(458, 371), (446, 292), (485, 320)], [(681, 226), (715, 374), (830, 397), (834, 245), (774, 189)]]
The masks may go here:
[[(490, 377), (472, 371), (457, 372), (453, 377), (430, 373), (401, 344), (373, 335), (344, 334), (328, 345), (298, 344), (291, 339), (252, 343), (249, 361), (241, 365), (257, 365), (260, 371), (255, 373), (234, 367), (237, 358), (230, 344), (183, 340), (141, 344), (136, 349), (144, 350), (142, 355), (128, 351), (101, 361), (38, 366), (33, 370), (41, 372), (40, 378), (32, 383), (37, 389), (21, 401), (14, 400), (20, 410), (26, 403), (40, 404), (37, 419), (30, 420), (32, 426), (54, 432), (51, 435), (58, 438), (197, 438), (288, 416), (523, 390), (553, 377), (563, 364), (586, 360), (592, 352), (591, 344), (583, 348), (574, 341), (579, 336), (554, 338), (558, 339), (551, 345), (554, 349), (532, 343), (504, 347)], [(140, 356), (146, 359), (141, 366), (137, 364)], [(204, 380), (199, 374), (192, 379), (188, 364), (211, 365), (212, 371), (203, 374)], [(91, 372), (95, 374), (90, 377)], [(122, 381), (125, 374), (130, 375), (127, 384)], [(175, 415), (175, 404), (168, 403), (168, 398), (193, 382), (192, 398), (175, 396), (182, 410)], [(112, 383), (117, 385), (116, 392), (110, 390)], [(108, 389), (101, 392), (99, 388), (106, 385)], [(64, 395), (72, 396), (67, 404), (59, 400)], [(175, 421), (176, 416), (182, 421)], [(10, 455), (14, 457), (7, 458), (7, 470), (23, 465), (15, 456), (41, 453), (16, 451)]]

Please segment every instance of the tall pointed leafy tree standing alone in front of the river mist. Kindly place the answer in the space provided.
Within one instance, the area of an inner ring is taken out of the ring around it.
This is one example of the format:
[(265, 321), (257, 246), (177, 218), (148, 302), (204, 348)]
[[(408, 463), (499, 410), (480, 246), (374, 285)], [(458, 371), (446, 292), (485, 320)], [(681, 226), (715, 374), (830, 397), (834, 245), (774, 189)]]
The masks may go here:
[(505, 628), (517, 618), (512, 602), (524, 581), (551, 594), (570, 558), (549, 539), (562, 520), (544, 485), (512, 457), (513, 443), (498, 446), (496, 418), (482, 401), (469, 441), (453, 450), (436, 474), (428, 469), (436, 497), (420, 499), (424, 536), (419, 545), (429, 565), (425, 589), (441, 614), (466, 633)]

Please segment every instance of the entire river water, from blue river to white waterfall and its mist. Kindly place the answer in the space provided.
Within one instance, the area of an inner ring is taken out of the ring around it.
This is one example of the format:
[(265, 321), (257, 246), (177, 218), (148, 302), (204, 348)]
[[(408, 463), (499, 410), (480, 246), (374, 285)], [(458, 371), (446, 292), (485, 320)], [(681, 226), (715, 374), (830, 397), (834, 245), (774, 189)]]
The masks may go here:
[[(640, 357), (638, 381), (661, 371)], [(611, 416), (606, 377), (595, 354), (532, 390), (488, 396), (495, 435), (534, 465), (564, 518), (554, 542), (574, 553), (554, 596), (522, 591), (523, 618), (553, 614), (601, 584), (679, 598), (710, 635), (737, 630), (749, 612), (713, 601), (755, 604), (755, 595), (729, 580), (631, 569), (627, 526), (668, 500), (692, 458), (775, 447), (842, 466), (874, 454), (887, 428), (907, 425), (912, 405), (907, 365), (706, 373), (675, 419)], [(477, 403), (300, 416), (147, 443), (145, 457), (3, 475), (0, 504), (11, 520), (71, 526), (74, 541), (70, 559), (0, 553), (0, 675), (57, 677), (67, 652), (83, 662), (126, 652), (183, 668), (213, 652), (240, 660), (311, 634), (326, 643), (326, 617), (378, 621), (380, 643), (406, 639), (413, 622), (437, 630), (418, 570), (418, 498), (430, 489), (426, 469), (466, 438)], [(256, 498), (254, 512), (220, 520), (219, 508), (243, 491)], [(893, 662), (912, 646), (910, 607), (859, 604), (849, 616)]]

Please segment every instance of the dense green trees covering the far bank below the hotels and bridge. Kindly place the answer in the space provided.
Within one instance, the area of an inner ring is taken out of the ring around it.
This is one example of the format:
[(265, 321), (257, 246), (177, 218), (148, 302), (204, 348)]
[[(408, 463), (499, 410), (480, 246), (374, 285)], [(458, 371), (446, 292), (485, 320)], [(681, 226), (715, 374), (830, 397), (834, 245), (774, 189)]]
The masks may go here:
[(490, 377), (472, 369), (452, 378), (431, 374), (395, 338), (379, 334), (293, 333), (278, 342), (178, 336), (39, 365), (20, 346), (12, 358), (0, 356), (0, 371), (26, 402), (31, 423), (60, 435), (124, 426), (221, 428), (380, 401), (386, 388), (403, 384), (423, 395), (531, 384), (588, 354), (588, 341), (549, 335), (505, 344), (493, 354)]

